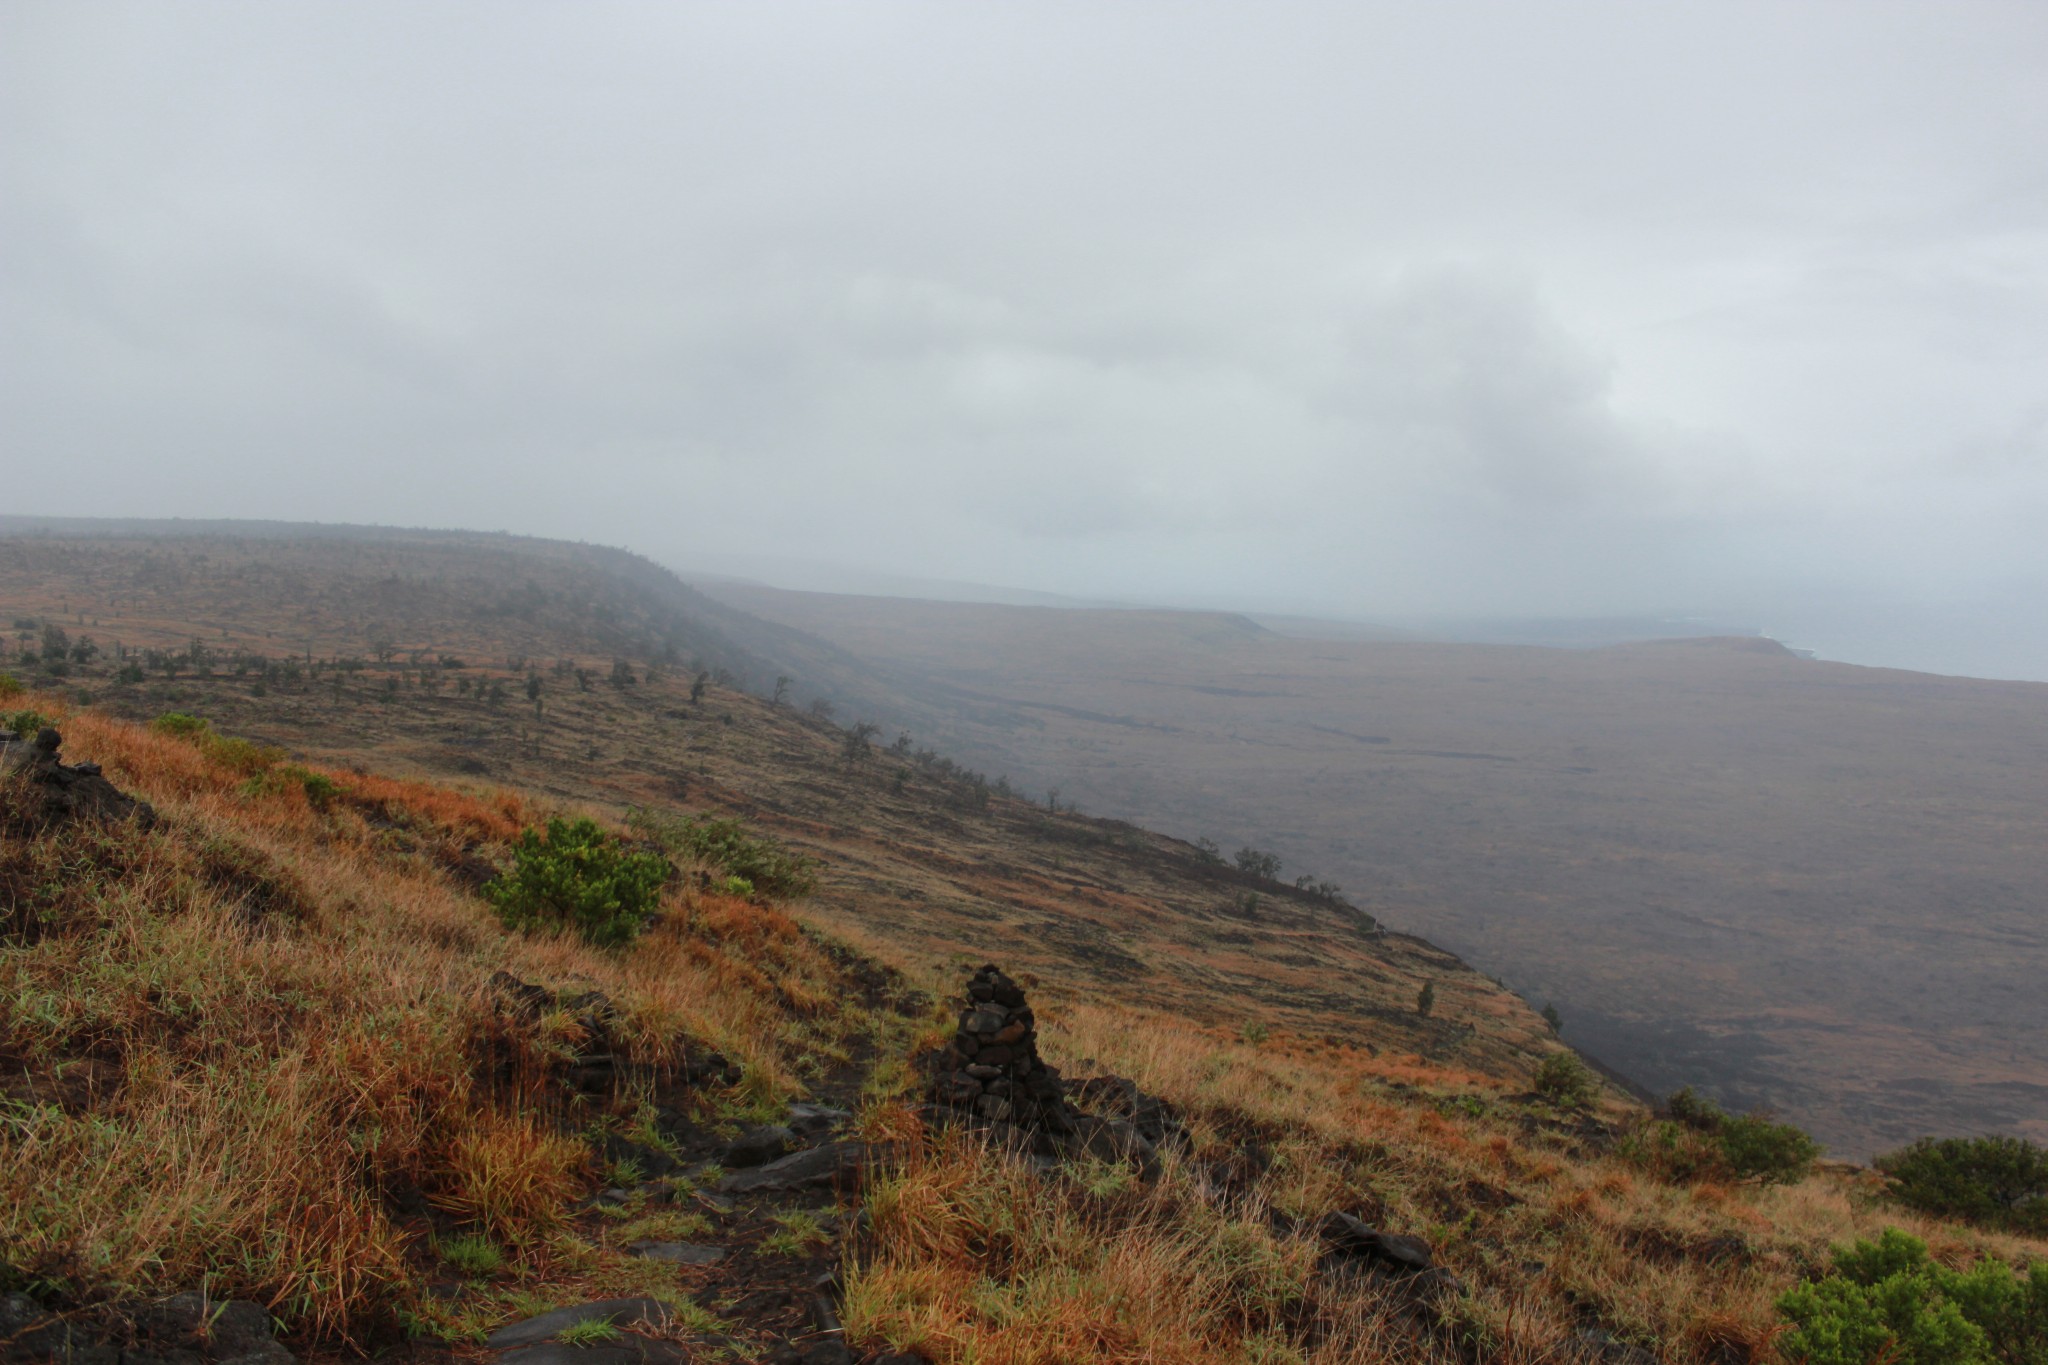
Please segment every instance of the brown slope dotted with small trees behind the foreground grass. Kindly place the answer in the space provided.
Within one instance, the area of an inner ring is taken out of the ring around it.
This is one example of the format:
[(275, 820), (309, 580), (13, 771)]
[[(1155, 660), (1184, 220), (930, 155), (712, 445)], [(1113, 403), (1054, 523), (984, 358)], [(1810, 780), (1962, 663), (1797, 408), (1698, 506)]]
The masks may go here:
[[(1049, 810), (913, 741), (850, 745), (809, 708), (741, 692), (737, 669), (770, 665), (733, 645), (739, 614), (696, 614), (680, 583), (645, 563), (618, 577), (616, 559), (395, 532), (20, 538), (0, 542), (0, 612), (90, 636), (98, 653), (66, 681), (115, 714), (197, 712), (324, 761), (489, 778), (612, 812), (745, 814), (819, 860), (815, 917), (928, 962), (999, 956), (1067, 988), (1333, 1042), (1372, 1021), (1374, 1048), (1491, 1074), (1526, 1072), (1552, 1046), (1518, 997), (1337, 900)], [(43, 626), (23, 630), (16, 657), (41, 651)], [(801, 639), (782, 659), (838, 667), (834, 647)], [(631, 684), (614, 686), (614, 663)]]

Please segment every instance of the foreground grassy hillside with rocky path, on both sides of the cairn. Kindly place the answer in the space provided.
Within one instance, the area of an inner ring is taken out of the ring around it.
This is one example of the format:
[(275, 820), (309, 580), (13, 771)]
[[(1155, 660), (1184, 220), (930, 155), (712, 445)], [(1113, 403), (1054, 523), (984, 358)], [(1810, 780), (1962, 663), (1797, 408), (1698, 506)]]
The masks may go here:
[[(1040, 1042), (1069, 1076), (1167, 1101), (1180, 1136), (1149, 1179), (1030, 1160), (913, 1107), (958, 976), (885, 927), (856, 952), (829, 933), (844, 911), (737, 896), (725, 866), (684, 860), (625, 948), (514, 933), (477, 870), (573, 802), (291, 761), (49, 692), (6, 706), (158, 812), (47, 823), (0, 788), (0, 1289), (80, 1322), (207, 1285), (274, 1312), (299, 1353), (475, 1355), (508, 1320), (637, 1293), (668, 1308), (623, 1338), (668, 1353), (647, 1359), (760, 1359), (815, 1345), (799, 1289), (825, 1263), (856, 1357), (1772, 1361), (1778, 1295), (1849, 1236), (2048, 1257), (1839, 1171), (1683, 1169), (1622, 1097), (1583, 1109), (1513, 1066), (1397, 1056), (1393, 1021), (1341, 1046), (1260, 1038), (1128, 984), (1042, 982)], [(553, 1005), (522, 1013), (500, 972)], [(860, 1111), (860, 1191), (731, 1199), (684, 1166), (805, 1095)], [(1329, 1252), (1331, 1212), (1423, 1238), (1450, 1279)], [(727, 1254), (631, 1254), (647, 1238)]]

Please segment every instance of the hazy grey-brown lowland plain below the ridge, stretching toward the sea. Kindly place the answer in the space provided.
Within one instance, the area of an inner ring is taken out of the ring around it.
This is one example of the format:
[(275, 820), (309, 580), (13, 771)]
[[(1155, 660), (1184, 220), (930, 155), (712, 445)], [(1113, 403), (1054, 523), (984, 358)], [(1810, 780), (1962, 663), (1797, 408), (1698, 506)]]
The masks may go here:
[(1657, 1091), (1704, 1081), (1845, 1154), (2048, 1136), (2048, 688), (1759, 639), (717, 591), (862, 657), (963, 761), (1343, 882)]

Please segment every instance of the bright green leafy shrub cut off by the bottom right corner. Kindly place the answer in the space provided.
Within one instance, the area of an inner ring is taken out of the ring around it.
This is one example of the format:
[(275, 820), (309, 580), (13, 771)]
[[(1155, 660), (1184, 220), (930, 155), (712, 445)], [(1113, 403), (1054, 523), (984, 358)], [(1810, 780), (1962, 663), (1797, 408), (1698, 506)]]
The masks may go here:
[(1898, 1228), (1835, 1252), (1835, 1273), (1778, 1300), (1798, 1365), (2048, 1365), (2048, 1263), (1950, 1271)]

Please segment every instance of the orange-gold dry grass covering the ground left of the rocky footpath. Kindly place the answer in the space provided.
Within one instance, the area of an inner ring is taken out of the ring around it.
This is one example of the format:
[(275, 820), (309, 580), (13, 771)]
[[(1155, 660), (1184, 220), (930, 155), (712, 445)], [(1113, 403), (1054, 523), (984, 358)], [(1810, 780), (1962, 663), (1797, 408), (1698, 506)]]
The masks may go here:
[[(498, 792), (328, 769), (342, 788), (252, 786), (203, 745), (57, 698), (66, 755), (98, 759), (164, 821), (0, 841), (0, 1246), (20, 1281), (76, 1295), (256, 1297), (350, 1338), (418, 1291), (416, 1187), (535, 1263), (588, 1179), (588, 1119), (492, 1066), (512, 1036), (483, 995), (508, 970), (598, 988), (614, 1048), (664, 1068), (690, 1038), (793, 1093), (829, 1046), (840, 980), (788, 917), (723, 896), (664, 902), (633, 950), (508, 935), (446, 872), (532, 810)], [(25, 1173), (33, 1173), (27, 1177)]]

